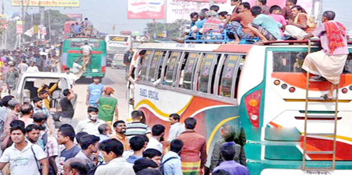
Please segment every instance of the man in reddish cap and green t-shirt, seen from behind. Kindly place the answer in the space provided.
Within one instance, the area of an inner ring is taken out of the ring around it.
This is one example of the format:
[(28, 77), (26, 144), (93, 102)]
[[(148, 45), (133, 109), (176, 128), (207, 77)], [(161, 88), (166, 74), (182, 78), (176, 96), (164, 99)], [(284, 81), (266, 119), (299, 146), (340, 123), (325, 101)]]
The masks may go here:
[(104, 88), (104, 95), (101, 96), (98, 100), (99, 103), (99, 112), (98, 118), (104, 120), (107, 124), (111, 126), (113, 122), (114, 112), (115, 112), (115, 121), (118, 120), (118, 108), (117, 108), (117, 99), (111, 97), (111, 94), (115, 90), (111, 87)]

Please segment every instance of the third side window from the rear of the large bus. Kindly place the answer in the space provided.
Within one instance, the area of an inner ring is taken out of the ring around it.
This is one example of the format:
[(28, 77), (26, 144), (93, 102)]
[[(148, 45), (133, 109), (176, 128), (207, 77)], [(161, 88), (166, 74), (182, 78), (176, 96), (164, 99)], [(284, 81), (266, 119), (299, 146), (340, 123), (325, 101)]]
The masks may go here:
[[(181, 70), (183, 70), (183, 80), (182, 80), (182, 88), (184, 89), (192, 89), (193, 82), (193, 74), (194, 69), (197, 65), (197, 53), (188, 53), (187, 57), (184, 57), (185, 64)], [(181, 71), (182, 72), (182, 71)], [(180, 80), (181, 81), (181, 80)]]

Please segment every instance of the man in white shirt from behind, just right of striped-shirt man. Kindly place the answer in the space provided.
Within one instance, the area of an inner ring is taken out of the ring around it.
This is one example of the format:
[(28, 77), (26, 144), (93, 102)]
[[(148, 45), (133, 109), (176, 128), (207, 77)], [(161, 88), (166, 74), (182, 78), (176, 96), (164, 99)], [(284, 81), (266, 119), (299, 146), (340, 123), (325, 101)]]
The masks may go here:
[(153, 148), (162, 153), (163, 144), (161, 142), (164, 141), (165, 127), (163, 125), (154, 125), (151, 128), (151, 133), (153, 136), (149, 139), (146, 149)]

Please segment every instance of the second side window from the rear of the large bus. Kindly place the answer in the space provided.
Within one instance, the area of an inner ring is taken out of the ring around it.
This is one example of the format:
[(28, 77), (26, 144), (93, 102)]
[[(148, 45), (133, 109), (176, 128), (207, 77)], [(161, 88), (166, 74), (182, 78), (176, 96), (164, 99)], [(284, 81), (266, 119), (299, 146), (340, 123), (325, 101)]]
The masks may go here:
[(200, 75), (199, 75), (199, 83), (198, 83), (198, 90), (205, 93), (211, 93), (208, 90), (209, 82), (212, 83), (213, 75), (212, 68), (213, 64), (216, 64), (217, 61), (214, 59), (218, 59), (218, 54), (205, 54), (202, 58), (202, 63), (200, 67)]

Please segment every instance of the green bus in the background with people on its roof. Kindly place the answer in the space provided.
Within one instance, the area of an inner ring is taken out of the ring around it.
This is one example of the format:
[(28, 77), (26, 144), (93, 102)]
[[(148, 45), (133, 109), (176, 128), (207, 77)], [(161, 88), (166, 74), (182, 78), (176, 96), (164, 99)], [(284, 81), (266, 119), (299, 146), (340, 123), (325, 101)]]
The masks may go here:
[(92, 51), (90, 53), (90, 61), (86, 66), (87, 69), (82, 74), (82, 77), (104, 77), (106, 71), (106, 43), (100, 38), (73, 37), (65, 39), (60, 60), (61, 71), (64, 72), (67, 67), (72, 69), (75, 60), (80, 57), (83, 58), (81, 46), (83, 46), (85, 42), (88, 42), (92, 47)]

